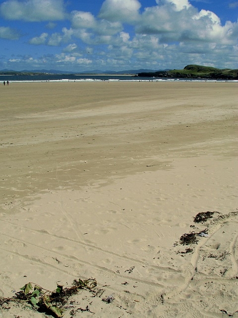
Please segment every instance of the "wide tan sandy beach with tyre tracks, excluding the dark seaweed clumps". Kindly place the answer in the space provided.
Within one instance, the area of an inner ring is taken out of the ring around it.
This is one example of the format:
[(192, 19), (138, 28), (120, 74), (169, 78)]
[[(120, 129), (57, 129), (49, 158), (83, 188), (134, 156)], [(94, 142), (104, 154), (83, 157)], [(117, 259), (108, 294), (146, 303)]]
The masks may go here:
[(238, 317), (237, 86), (2, 85), (0, 296), (93, 277), (65, 318)]

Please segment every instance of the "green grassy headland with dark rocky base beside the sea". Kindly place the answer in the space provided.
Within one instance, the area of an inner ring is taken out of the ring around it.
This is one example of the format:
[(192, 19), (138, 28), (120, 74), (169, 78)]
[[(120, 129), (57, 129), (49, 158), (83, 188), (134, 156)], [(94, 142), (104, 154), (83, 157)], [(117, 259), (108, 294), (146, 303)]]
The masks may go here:
[(209, 66), (187, 65), (183, 70), (142, 72), (138, 77), (178, 79), (238, 79), (238, 70), (216, 69)]

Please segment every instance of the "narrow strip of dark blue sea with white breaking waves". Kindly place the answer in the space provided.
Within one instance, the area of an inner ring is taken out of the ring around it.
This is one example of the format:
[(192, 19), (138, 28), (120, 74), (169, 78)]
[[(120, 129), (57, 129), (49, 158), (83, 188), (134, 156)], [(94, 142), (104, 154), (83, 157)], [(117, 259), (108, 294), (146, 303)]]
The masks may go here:
[[(227, 81), (216, 79), (158, 79), (127, 75), (0, 75), (0, 82), (44, 82), (44, 81)], [(234, 80), (232, 80), (234, 81)]]

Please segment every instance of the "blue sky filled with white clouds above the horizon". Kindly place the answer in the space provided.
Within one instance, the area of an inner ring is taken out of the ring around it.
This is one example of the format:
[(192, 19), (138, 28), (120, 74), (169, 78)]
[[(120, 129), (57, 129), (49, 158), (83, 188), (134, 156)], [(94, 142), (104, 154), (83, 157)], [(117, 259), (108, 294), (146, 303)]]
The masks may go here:
[(0, 0), (0, 70), (238, 68), (238, 0)]

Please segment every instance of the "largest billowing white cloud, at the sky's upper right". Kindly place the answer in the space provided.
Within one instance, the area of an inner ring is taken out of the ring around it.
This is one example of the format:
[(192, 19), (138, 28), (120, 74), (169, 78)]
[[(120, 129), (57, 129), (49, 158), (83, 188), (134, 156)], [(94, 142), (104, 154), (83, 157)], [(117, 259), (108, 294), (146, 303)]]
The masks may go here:
[(136, 33), (157, 35), (160, 43), (219, 42), (236, 44), (238, 23), (222, 25), (212, 11), (200, 10), (187, 0), (157, 0), (147, 7), (135, 24)]

